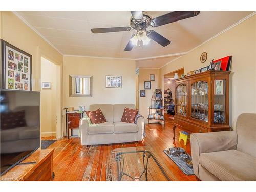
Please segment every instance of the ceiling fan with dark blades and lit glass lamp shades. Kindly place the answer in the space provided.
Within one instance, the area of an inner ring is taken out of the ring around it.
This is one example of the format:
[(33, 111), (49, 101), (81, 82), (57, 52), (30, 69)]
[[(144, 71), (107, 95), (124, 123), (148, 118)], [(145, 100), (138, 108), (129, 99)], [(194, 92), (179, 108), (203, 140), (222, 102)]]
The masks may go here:
[(131, 27), (94, 28), (91, 29), (91, 31), (93, 33), (110, 33), (130, 31), (131, 29), (137, 30), (137, 33), (132, 35), (124, 51), (131, 51), (135, 45), (141, 46), (148, 44), (150, 40), (154, 40), (161, 46), (165, 47), (170, 44), (170, 41), (154, 30), (147, 31), (146, 28), (149, 26), (158, 27), (161, 25), (177, 22), (178, 20), (194, 17), (199, 15), (200, 11), (174, 11), (153, 19), (146, 12), (131, 11), (131, 13)]

